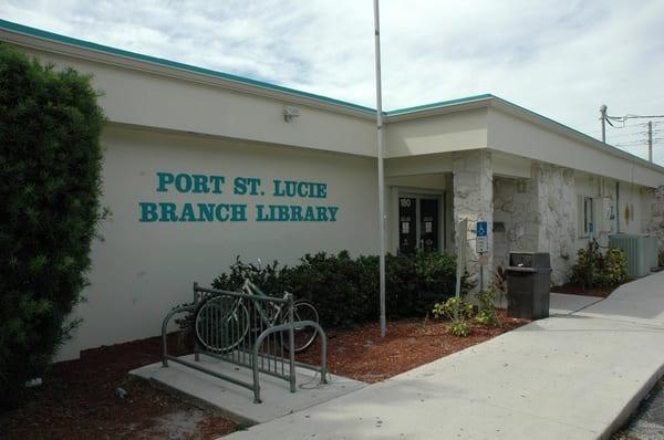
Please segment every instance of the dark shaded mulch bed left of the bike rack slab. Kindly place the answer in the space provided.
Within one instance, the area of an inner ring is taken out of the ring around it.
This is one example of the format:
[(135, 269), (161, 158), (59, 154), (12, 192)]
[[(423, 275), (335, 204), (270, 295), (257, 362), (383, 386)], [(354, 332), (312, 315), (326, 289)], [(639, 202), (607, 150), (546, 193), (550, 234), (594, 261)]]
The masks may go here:
[[(175, 335), (170, 346), (175, 346)], [(158, 337), (81, 353), (54, 364), (28, 402), (0, 413), (3, 439), (207, 439), (236, 425), (183, 402), (127, 371), (160, 359)], [(122, 387), (128, 395), (115, 396)], [(194, 420), (194, 421), (191, 421)]]

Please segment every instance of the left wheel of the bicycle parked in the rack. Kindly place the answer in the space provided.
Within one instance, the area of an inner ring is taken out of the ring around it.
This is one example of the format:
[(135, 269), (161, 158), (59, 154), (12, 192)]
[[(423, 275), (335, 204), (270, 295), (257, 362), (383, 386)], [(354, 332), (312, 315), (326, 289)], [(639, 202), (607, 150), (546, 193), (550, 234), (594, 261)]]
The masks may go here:
[(240, 300), (211, 296), (196, 310), (194, 327), (200, 347), (212, 353), (228, 353), (247, 336), (249, 311)]

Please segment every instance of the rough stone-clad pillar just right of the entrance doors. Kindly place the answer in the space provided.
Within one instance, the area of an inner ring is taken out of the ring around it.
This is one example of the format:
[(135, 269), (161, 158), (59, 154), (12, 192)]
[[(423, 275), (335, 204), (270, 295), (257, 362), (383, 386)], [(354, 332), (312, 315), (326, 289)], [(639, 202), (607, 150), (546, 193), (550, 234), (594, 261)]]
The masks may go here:
[[(486, 150), (458, 151), (453, 156), (453, 187), (454, 187), (454, 224), (455, 243), (461, 234), (466, 234), (466, 269), (470, 274), (470, 282), (478, 281), (478, 254), (475, 248), (475, 230), (477, 220), (483, 219), (492, 223), (494, 219), (494, 172), (491, 153)], [(468, 219), (468, 230), (460, 231), (459, 222)], [(489, 250), (492, 250), (492, 233), (489, 229)], [(485, 280), (489, 280), (491, 271), (491, 253), (485, 270)]]

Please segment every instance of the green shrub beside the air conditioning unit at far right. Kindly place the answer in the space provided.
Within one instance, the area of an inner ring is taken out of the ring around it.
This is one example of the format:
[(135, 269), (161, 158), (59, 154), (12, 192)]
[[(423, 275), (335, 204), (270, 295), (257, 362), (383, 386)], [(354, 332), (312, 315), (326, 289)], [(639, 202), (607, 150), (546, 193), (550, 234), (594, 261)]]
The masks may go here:
[(620, 248), (600, 252), (596, 242), (577, 253), (571, 282), (583, 287), (615, 286), (627, 281), (627, 259)]

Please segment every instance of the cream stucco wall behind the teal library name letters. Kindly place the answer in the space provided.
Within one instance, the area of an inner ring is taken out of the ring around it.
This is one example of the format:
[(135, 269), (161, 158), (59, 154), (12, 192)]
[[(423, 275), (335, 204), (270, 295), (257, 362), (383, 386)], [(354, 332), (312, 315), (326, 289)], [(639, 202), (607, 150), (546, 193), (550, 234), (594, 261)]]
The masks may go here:
[[(92, 250), (84, 322), (60, 359), (82, 348), (154, 336), (170, 307), (190, 301), (191, 283), (209, 285), (236, 255), (294, 263), (307, 252), (375, 253), (375, 160), (221, 138), (108, 126), (102, 138), (103, 203), (113, 214)], [(157, 171), (220, 175), (221, 195), (157, 192)], [(259, 177), (266, 196), (236, 196), (231, 179)], [(272, 179), (326, 184), (324, 199), (274, 198)], [(141, 201), (324, 205), (335, 222), (139, 222)]]

